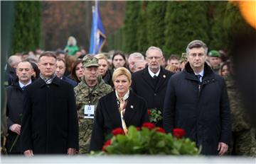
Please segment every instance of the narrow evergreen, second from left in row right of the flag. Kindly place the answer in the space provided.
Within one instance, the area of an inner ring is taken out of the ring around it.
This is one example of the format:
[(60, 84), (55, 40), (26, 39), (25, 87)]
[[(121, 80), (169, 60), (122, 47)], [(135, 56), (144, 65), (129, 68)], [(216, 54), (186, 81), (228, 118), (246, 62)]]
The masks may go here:
[(137, 52), (146, 52), (146, 49), (149, 47), (147, 41), (147, 32), (146, 32), (146, 6), (148, 1), (142, 1), (142, 8), (139, 11), (139, 16), (137, 19)]

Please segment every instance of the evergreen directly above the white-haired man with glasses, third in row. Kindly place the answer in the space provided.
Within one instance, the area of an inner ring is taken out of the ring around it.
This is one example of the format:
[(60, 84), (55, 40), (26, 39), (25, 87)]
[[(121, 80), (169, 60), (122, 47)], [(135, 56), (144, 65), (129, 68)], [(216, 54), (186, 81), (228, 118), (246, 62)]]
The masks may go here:
[(166, 1), (149, 1), (146, 7), (146, 31), (149, 46), (164, 46), (164, 30), (166, 24), (164, 17), (166, 15)]

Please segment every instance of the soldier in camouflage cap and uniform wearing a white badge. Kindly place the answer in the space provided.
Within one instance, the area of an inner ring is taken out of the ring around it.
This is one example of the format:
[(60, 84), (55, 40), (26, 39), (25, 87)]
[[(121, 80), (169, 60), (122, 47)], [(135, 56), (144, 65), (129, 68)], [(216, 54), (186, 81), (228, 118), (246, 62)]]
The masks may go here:
[(79, 153), (89, 153), (90, 137), (94, 123), (98, 100), (112, 91), (99, 76), (98, 59), (87, 55), (82, 59), (84, 76), (75, 87), (76, 105), (78, 107)]

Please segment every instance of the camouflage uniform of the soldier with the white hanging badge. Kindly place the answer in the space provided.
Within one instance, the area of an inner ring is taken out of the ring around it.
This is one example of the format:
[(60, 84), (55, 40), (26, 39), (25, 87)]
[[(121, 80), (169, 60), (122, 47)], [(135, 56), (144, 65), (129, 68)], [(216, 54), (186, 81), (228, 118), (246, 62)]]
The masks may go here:
[(95, 105), (97, 107), (98, 100), (107, 93), (112, 91), (112, 87), (107, 85), (101, 77), (98, 77), (97, 86), (90, 88), (91, 100), (89, 100), (89, 86), (85, 83), (85, 78), (75, 87), (76, 105), (78, 107), (78, 124), (79, 124), (79, 153), (89, 153), (90, 137), (94, 119), (84, 118), (85, 105)]

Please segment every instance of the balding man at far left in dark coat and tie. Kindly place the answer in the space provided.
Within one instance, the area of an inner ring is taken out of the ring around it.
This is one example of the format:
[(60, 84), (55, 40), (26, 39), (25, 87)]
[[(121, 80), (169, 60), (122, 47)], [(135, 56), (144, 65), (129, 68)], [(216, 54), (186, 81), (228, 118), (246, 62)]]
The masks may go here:
[(6, 116), (8, 127), (6, 149), (9, 154), (21, 153), (19, 138), (21, 134), (21, 118), (23, 111), (23, 88), (31, 83), (32, 69), (33, 67), (28, 61), (21, 61), (16, 67), (16, 81), (6, 88)]

